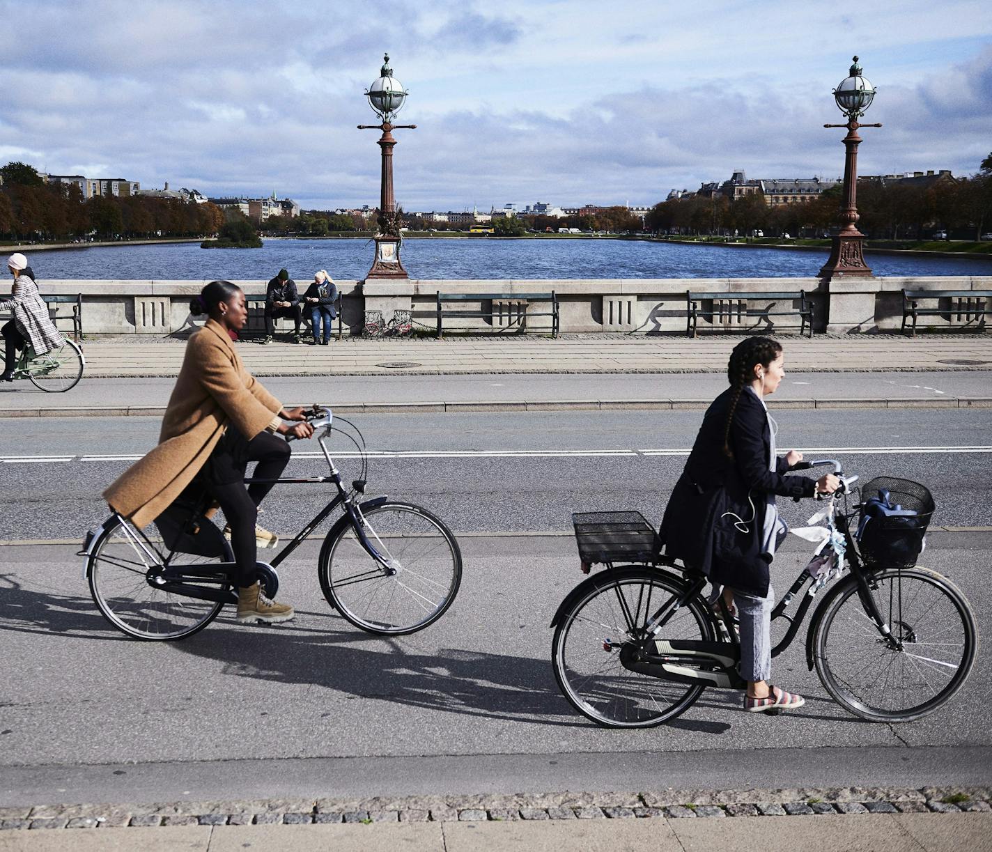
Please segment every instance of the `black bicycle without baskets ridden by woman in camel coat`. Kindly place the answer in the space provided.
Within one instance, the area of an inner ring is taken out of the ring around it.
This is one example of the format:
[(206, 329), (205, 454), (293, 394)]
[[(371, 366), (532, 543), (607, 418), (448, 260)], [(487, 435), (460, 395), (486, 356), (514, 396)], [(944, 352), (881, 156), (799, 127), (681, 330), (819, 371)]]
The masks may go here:
[[(359, 502), (368, 473), (361, 431), (330, 409), (308, 420), (329, 467), (327, 476), (246, 479), (287, 484), (331, 483), (336, 495), (271, 562), (257, 563), (263, 591), (274, 597), (277, 568), (335, 509), (341, 517), (324, 537), (317, 576), (327, 602), (355, 627), (383, 636), (423, 630), (440, 618), (461, 582), (454, 535), (427, 509), (389, 497)], [(347, 428), (340, 428), (337, 424)], [(327, 449), (332, 432), (350, 438), (361, 476), (346, 488)], [(208, 625), (225, 604), (236, 604), (229, 572), (234, 554), (206, 517), (205, 495), (181, 498), (144, 529), (114, 513), (91, 530), (80, 555), (96, 606), (128, 636), (185, 639)]]

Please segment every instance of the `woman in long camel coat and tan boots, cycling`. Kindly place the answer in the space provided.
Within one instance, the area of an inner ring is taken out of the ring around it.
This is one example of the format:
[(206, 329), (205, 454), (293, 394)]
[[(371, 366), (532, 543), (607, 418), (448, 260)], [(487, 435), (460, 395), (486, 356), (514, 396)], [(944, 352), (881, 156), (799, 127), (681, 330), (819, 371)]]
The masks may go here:
[(284, 409), (245, 370), (235, 351), (228, 331), (240, 330), (248, 318), (240, 288), (210, 282), (190, 304), (190, 312), (208, 313), (209, 319), (186, 343), (159, 444), (103, 496), (111, 509), (141, 528), (195, 480), (227, 518), (225, 533), (230, 533), (238, 566), (238, 621), (286, 621), (293, 618), (293, 607), (267, 601), (255, 580), (258, 545), (278, 541), (255, 523), (258, 505), (272, 485), (254, 484), (246, 490), (243, 479), (249, 461), (258, 462), (257, 478), (278, 478), (289, 463), (290, 445), (276, 433), (310, 437), (313, 429), (303, 409)]

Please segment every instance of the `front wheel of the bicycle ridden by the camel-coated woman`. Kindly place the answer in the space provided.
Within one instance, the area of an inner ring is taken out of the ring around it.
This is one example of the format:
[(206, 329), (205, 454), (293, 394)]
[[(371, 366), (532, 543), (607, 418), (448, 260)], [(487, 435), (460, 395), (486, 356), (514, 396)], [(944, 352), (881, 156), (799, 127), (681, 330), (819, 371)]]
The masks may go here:
[(362, 510), (361, 534), (350, 525), (320, 550), (324, 597), (355, 627), (382, 636), (423, 630), (440, 618), (461, 583), (461, 551), (451, 531), (426, 509), (389, 502)]

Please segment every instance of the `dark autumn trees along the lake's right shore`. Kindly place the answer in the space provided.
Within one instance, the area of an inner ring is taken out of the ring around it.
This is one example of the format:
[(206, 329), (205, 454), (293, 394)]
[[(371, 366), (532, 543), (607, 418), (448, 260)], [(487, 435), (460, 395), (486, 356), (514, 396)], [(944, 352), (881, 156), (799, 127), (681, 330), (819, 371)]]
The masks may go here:
[[(656, 204), (649, 230), (683, 235), (821, 236), (838, 223), (843, 187), (831, 186), (812, 201), (765, 203), (760, 194), (735, 200), (687, 195)], [(926, 239), (935, 230), (951, 238), (979, 239), (992, 226), (992, 154), (969, 178), (911, 183), (869, 179), (857, 183), (858, 228), (874, 239)]]

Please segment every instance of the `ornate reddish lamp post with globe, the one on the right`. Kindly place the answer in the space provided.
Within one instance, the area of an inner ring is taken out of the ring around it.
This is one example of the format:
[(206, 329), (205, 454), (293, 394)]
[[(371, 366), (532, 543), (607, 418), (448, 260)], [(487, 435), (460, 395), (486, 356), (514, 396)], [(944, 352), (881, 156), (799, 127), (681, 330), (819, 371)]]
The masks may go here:
[(848, 76), (833, 90), (833, 98), (840, 111), (847, 116), (845, 124), (824, 124), (823, 127), (846, 127), (844, 137), (844, 197), (840, 202), (840, 232), (833, 238), (830, 258), (819, 271), (820, 276), (871, 275), (871, 269), (864, 258), (864, 234), (858, 230), (858, 209), (856, 204), (858, 183), (858, 136), (859, 127), (881, 127), (881, 124), (859, 124), (858, 118), (864, 115), (875, 97), (872, 84), (861, 76), (858, 58), (848, 71)]

